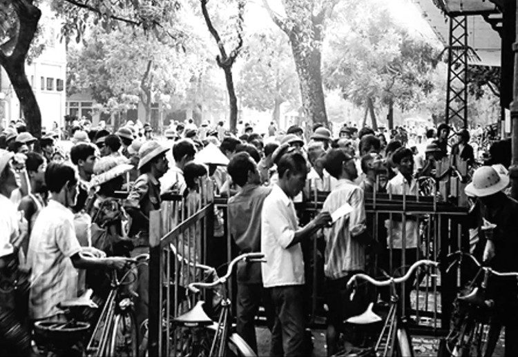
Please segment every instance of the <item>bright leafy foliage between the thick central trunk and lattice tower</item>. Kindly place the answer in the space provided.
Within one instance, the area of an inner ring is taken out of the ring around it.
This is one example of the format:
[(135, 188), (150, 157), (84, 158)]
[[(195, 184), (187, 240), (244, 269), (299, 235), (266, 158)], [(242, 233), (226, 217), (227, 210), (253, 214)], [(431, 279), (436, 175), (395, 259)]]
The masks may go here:
[[(329, 24), (325, 77), (358, 106), (415, 108), (433, 90), (439, 50), (395, 23), (383, 1), (346, 3)], [(372, 110), (372, 108), (370, 108)]]

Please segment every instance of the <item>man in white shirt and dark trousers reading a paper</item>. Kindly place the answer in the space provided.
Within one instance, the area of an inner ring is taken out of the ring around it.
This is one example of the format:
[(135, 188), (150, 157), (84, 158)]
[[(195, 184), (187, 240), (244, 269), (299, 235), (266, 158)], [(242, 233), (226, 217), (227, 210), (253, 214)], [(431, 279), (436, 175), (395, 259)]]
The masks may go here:
[(261, 214), (261, 252), (267, 260), (262, 265), (262, 282), (269, 288), (275, 314), (270, 355), (280, 355), (282, 344), (284, 356), (306, 356), (310, 352), (303, 348), (305, 280), (299, 243), (329, 225), (331, 216), (320, 212), (305, 227), (298, 227), (292, 198), (306, 183), (307, 166), (302, 154), (288, 150), (278, 161), (277, 172), (278, 183), (265, 198)]

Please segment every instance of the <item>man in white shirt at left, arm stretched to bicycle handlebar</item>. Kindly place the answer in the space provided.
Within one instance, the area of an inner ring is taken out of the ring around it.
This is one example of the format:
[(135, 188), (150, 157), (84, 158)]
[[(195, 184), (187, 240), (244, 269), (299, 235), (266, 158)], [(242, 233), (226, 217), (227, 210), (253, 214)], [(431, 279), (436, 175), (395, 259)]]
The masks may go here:
[[(66, 320), (57, 304), (77, 297), (77, 269), (108, 267), (122, 269), (128, 259), (106, 258), (95, 248), (81, 247), (74, 230), (79, 176), (74, 167), (50, 163), (45, 172), (50, 201), (39, 213), (29, 240), (31, 268), (29, 317), (32, 320)], [(88, 258), (80, 252), (95, 254)]]

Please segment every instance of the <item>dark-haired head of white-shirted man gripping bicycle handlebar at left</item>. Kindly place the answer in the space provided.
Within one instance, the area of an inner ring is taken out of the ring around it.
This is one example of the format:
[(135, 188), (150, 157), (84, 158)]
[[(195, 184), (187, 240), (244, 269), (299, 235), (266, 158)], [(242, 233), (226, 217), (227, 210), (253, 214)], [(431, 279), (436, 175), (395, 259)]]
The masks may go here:
[(64, 163), (50, 163), (45, 171), (48, 191), (66, 207), (73, 207), (78, 193), (79, 177), (74, 167)]

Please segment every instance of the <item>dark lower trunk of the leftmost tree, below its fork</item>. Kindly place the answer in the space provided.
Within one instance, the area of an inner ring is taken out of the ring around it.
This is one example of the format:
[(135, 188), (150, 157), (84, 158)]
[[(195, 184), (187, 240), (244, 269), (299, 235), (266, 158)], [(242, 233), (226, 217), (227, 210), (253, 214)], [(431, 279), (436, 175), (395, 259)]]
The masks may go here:
[(39, 138), (41, 136), (41, 112), (25, 73), (25, 62), (8, 63), (4, 68), (20, 102), (27, 130)]

